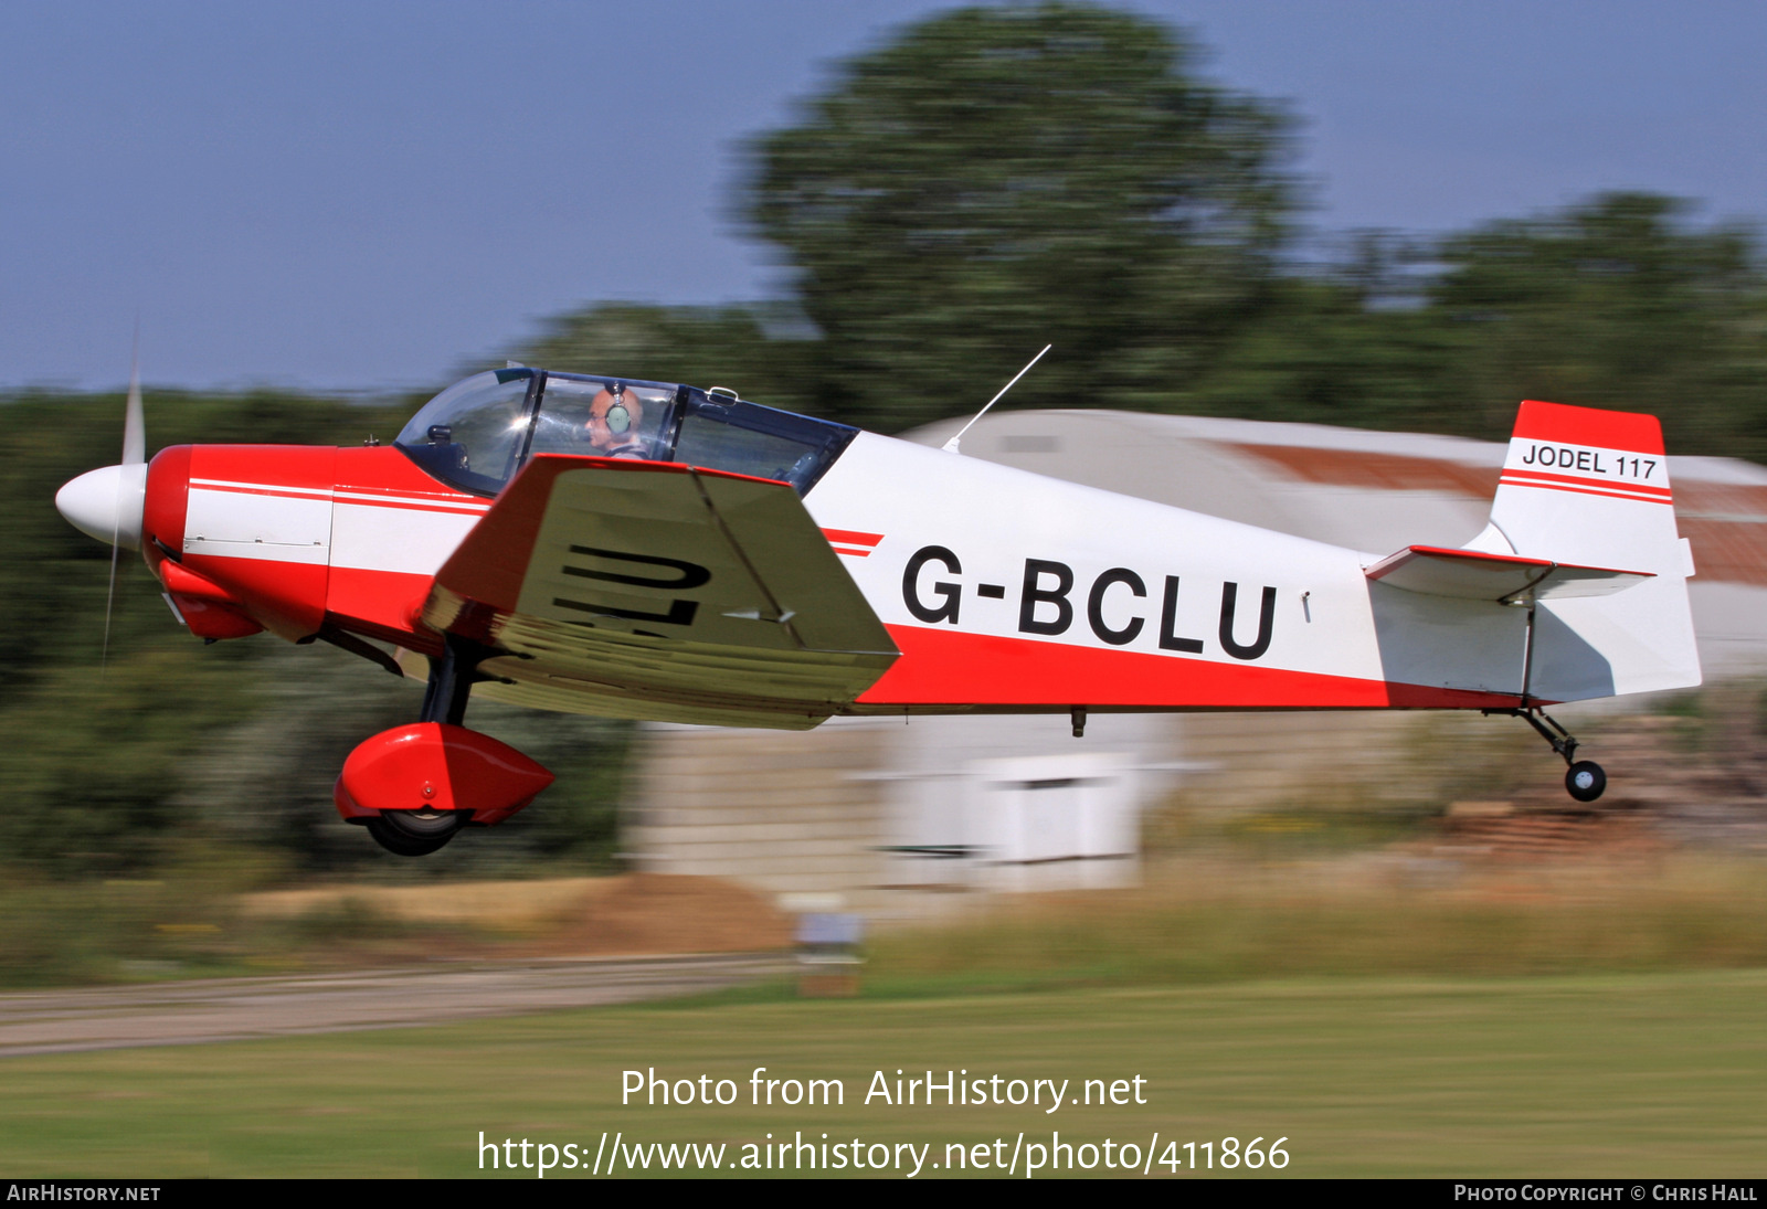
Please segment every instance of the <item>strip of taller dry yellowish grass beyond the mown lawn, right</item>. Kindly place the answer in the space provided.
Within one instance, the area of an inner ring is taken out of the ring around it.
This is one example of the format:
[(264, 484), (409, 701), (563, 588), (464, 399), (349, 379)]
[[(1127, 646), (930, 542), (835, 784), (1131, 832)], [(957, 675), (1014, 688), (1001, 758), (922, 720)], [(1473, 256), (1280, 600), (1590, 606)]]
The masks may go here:
[(1767, 969), (1767, 864), (1497, 866), (1392, 886), (1345, 863), (1187, 864), (878, 933), (871, 995), (1304, 977)]

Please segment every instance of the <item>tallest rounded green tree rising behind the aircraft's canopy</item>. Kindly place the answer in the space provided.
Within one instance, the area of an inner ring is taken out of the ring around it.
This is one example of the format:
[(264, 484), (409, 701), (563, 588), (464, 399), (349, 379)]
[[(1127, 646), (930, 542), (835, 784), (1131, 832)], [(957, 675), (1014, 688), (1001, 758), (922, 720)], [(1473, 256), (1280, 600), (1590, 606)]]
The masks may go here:
[(1172, 403), (1267, 300), (1290, 124), (1147, 18), (959, 9), (848, 62), (762, 138), (740, 212), (795, 269), (827, 408)]

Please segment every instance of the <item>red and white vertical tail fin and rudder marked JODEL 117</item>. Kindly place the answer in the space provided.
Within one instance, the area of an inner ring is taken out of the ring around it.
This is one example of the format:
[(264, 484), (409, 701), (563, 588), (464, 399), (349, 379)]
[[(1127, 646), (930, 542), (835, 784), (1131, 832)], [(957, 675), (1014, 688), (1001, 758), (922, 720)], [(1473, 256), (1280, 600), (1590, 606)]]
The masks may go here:
[(1530, 696), (1571, 702), (1700, 682), (1693, 553), (1675, 528), (1654, 415), (1523, 403), (1491, 523), (1468, 548), (1654, 576), (1613, 596), (1543, 599)]

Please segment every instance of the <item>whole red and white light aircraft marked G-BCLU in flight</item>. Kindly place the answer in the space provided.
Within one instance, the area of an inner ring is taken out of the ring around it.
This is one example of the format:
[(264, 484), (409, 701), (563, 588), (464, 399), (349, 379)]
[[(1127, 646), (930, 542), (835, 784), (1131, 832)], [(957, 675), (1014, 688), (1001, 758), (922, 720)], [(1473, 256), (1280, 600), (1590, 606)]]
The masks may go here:
[[(832, 714), (1541, 707), (1700, 682), (1656, 417), (1523, 403), (1490, 525), (1362, 553), (792, 415), (509, 368), (392, 445), (175, 445), (57, 495), (189, 629), (428, 672), (337, 810), (419, 855), (551, 774), (468, 693), (809, 728)], [(375, 645), (392, 643), (396, 656)]]

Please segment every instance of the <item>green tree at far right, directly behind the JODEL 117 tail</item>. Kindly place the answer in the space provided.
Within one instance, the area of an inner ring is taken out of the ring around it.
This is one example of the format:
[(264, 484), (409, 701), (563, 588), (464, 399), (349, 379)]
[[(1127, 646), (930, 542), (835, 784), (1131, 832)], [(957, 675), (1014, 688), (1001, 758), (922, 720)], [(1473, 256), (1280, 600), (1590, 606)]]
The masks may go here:
[(1438, 246), (1430, 311), (1460, 422), (1509, 431), (1518, 399), (1656, 412), (1679, 452), (1767, 456), (1763, 281), (1749, 232), (1610, 193)]

